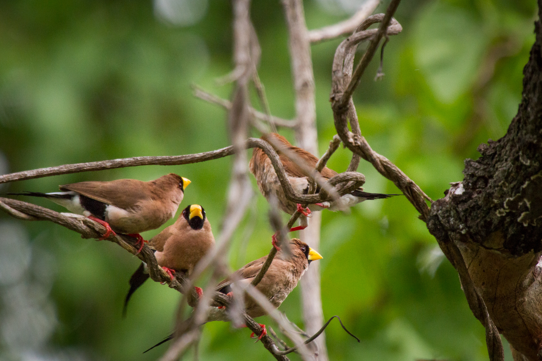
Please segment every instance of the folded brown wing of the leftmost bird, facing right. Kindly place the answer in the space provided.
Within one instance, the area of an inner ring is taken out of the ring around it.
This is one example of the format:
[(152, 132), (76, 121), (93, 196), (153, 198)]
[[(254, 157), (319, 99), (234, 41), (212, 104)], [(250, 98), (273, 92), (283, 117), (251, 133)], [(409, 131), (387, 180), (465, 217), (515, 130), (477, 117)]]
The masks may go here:
[(60, 186), (60, 189), (74, 191), (122, 209), (131, 208), (140, 200), (152, 198), (147, 182), (137, 179), (79, 182)]

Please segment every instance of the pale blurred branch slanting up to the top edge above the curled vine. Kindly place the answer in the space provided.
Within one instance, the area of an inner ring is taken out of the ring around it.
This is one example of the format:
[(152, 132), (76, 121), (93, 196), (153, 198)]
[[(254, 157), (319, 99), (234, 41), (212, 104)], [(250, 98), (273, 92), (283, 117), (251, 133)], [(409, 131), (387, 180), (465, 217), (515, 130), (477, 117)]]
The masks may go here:
[(379, 3), (380, 0), (367, 0), (349, 19), (321, 29), (310, 30), (308, 32), (309, 40), (311, 43), (318, 43), (321, 41), (334, 39), (341, 35), (349, 34), (356, 29), (359, 23), (364, 21), (364, 19), (375, 11)]

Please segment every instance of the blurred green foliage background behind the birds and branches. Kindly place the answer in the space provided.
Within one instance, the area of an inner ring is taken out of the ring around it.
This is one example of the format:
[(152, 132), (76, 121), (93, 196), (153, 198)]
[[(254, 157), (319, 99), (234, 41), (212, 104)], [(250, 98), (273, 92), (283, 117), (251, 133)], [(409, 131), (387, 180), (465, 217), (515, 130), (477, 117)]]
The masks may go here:
[[(308, 28), (349, 17), (362, 2), (307, 0)], [(354, 102), (372, 148), (431, 198), (462, 180), (463, 161), (479, 156), (479, 143), (505, 134), (521, 100), (536, 11), (534, 0), (399, 5), (403, 32), (386, 46), (385, 77), (373, 81), (375, 57)], [(294, 94), (281, 4), (254, 1), (251, 17), (270, 108), (291, 119)], [(339, 42), (312, 46), (321, 153), (335, 134), (328, 96)], [(225, 112), (193, 97), (190, 84), (228, 98), (231, 84), (218, 86), (215, 80), (232, 68), (231, 46), (229, 1), (3, 0), (0, 174), (228, 146)], [(290, 130), (281, 133), (293, 140)], [(342, 172), (349, 160), (350, 153), (339, 149), (328, 165)], [(175, 172), (192, 180), (180, 209), (201, 204), (217, 235), (229, 167), (224, 158), (69, 174), (0, 185), (0, 192), (55, 192), (70, 182), (151, 180)], [(358, 170), (366, 175), (366, 191), (397, 193), (369, 163), (362, 161)], [(232, 269), (270, 247), (268, 205), (252, 180), (256, 196), (235, 235)], [(64, 211), (47, 200), (29, 201)], [(455, 270), (404, 197), (364, 202), (349, 214), (322, 213), (324, 315), (341, 316), (362, 339), (358, 344), (332, 323), (326, 330), (332, 360), (487, 359), (483, 327), (467, 306)], [(172, 330), (179, 294), (149, 281), (122, 319), (128, 279), (139, 260), (117, 245), (0, 213), (0, 247), (0, 359), (152, 360), (165, 352), (167, 345), (141, 354)], [(280, 310), (302, 327), (298, 292)], [(259, 322), (275, 326), (267, 317)], [(249, 333), (228, 323), (205, 325), (200, 358), (272, 359)], [(511, 360), (506, 344), (505, 352)]]

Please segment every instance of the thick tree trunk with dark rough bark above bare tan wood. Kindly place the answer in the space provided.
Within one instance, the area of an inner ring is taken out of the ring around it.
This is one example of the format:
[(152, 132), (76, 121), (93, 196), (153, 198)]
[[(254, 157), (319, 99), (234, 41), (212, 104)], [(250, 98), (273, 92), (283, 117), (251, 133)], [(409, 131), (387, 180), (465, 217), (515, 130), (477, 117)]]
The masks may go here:
[[(542, 1), (538, 1), (539, 17)], [(504, 137), (467, 159), (464, 180), (431, 206), (427, 226), (460, 273), (472, 281), (474, 315), (487, 313), (513, 348), (515, 360), (538, 360), (542, 345), (542, 27), (524, 68), (518, 114)], [(460, 253), (455, 253), (459, 250)], [(466, 274), (461, 267), (466, 266)], [(467, 287), (468, 288), (468, 287)], [(491, 321), (490, 320), (490, 321)], [(490, 358), (491, 346), (488, 345)]]

